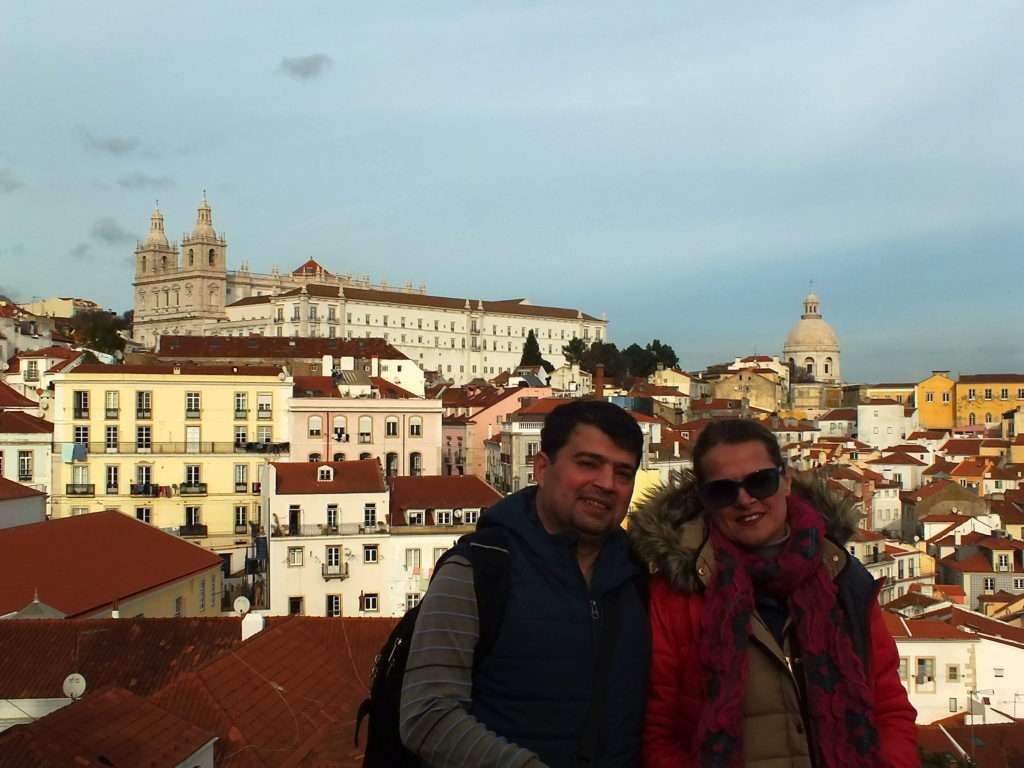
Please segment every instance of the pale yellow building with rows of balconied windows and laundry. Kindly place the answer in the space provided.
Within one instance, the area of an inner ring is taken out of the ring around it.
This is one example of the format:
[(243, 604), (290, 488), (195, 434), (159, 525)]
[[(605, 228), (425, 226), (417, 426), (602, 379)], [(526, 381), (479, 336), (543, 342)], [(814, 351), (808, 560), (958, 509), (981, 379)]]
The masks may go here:
[[(52, 515), (116, 509), (241, 557), (287, 456), (276, 367), (82, 365), (54, 377)], [(241, 567), (232, 563), (232, 568)]]

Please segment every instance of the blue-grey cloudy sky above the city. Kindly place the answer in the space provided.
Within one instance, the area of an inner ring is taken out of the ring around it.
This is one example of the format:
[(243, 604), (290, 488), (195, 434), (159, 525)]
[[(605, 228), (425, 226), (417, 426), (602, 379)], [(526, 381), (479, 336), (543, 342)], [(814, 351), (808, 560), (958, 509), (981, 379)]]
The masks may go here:
[(998, 0), (2, 2), (0, 293), (129, 308), (155, 201), (179, 239), (205, 188), (232, 266), (606, 312), (687, 368), (778, 353), (813, 281), (849, 380), (1019, 372), (1022, 29)]

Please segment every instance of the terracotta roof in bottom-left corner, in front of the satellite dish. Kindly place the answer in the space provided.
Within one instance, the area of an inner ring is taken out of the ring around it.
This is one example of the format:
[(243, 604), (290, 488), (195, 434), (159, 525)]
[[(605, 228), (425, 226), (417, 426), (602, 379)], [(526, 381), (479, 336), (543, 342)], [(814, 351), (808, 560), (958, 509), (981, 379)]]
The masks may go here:
[(147, 699), (109, 688), (0, 734), (0, 754), (11, 768), (181, 765), (213, 738)]

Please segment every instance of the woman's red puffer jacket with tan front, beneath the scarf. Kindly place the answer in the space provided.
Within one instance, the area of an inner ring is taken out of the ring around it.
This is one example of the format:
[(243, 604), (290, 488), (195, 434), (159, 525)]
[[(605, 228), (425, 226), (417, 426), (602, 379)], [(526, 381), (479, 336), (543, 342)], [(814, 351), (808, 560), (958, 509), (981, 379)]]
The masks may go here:
[[(664, 577), (652, 579), (652, 657), (643, 751), (647, 768), (695, 764), (691, 740), (706, 700), (698, 642), (702, 605), (700, 592), (680, 592), (670, 587)], [(760, 620), (755, 624), (743, 702), (744, 764), (758, 768), (810, 768), (814, 763), (796, 687), (786, 667), (758, 642), (759, 634), (770, 637), (770, 633)], [(916, 768), (921, 764), (916, 713), (900, 683), (896, 643), (886, 630), (878, 603), (870, 607), (869, 633), (869, 674), (881, 753), (888, 768)]]

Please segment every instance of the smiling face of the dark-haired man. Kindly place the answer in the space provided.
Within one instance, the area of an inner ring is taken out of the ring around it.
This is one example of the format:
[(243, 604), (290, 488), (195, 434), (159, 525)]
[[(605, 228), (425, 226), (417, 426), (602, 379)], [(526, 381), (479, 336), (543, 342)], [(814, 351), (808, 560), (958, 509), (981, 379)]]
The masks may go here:
[(621, 525), (633, 497), (636, 457), (590, 424), (579, 424), (552, 461), (534, 460), (537, 512), (549, 534), (603, 538)]

